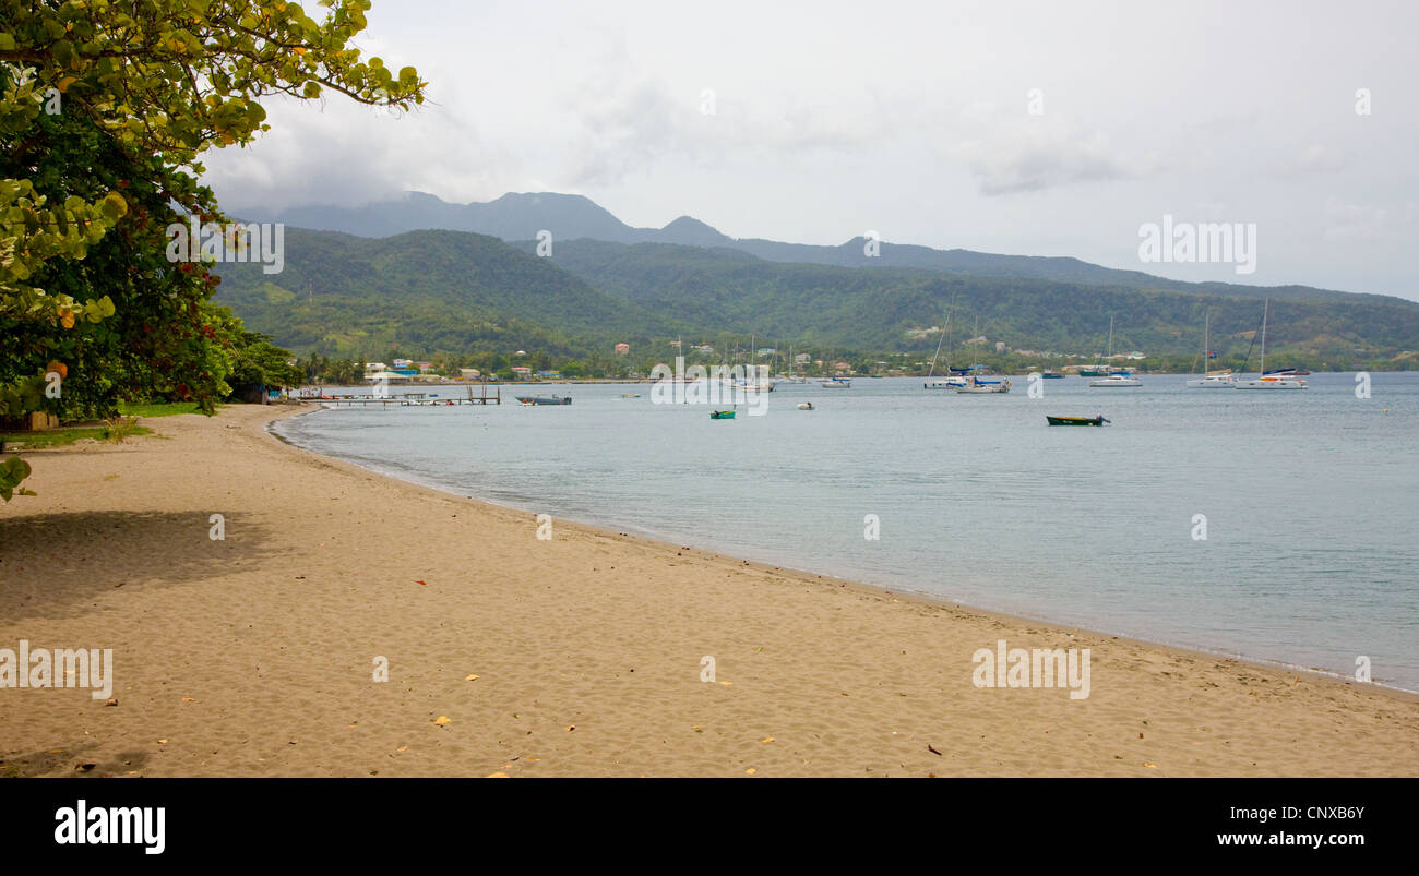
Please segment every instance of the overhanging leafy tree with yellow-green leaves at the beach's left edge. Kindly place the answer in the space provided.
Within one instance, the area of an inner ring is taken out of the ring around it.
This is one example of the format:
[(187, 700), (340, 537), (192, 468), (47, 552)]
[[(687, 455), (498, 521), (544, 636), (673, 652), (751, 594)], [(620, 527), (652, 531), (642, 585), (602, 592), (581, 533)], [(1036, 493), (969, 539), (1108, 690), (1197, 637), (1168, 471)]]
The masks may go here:
[[(0, 0), (0, 417), (142, 388), (210, 410), (227, 391), (253, 342), (206, 303), (210, 272), (165, 252), (184, 214), (226, 220), (199, 156), (267, 130), (261, 98), (423, 102), (412, 67), (352, 45), (369, 0), (319, 6)], [(47, 398), (54, 366), (70, 373)], [(0, 466), (0, 498), (27, 473)]]

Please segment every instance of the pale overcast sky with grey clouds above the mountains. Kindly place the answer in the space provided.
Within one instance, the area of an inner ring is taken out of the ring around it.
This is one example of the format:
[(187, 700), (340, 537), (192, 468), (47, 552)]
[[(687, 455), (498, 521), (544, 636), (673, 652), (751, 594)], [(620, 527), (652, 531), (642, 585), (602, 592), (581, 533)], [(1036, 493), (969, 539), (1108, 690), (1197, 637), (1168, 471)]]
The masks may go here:
[[(565, 191), (631, 225), (1419, 299), (1419, 3), (375, 0), (369, 21), (360, 48), (429, 102), (267, 103), (257, 145), (204, 157), (228, 211)], [(1256, 223), (1256, 272), (1141, 262), (1165, 214)]]

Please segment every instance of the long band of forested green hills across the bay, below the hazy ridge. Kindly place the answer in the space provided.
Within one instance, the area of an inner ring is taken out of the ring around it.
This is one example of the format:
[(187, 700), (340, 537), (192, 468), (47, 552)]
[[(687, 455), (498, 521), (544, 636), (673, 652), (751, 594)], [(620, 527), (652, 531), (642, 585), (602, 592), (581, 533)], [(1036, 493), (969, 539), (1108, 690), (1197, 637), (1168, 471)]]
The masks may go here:
[[(1260, 320), (1254, 295), (1142, 291), (918, 268), (850, 268), (765, 261), (728, 248), (558, 241), (505, 244), (457, 231), (390, 238), (288, 228), (285, 269), (221, 265), (219, 301), (257, 332), (298, 353), (380, 357), (528, 350), (603, 359), (630, 342), (668, 354), (666, 342), (724, 350), (751, 336), (803, 349), (929, 353), (955, 303), (952, 337), (1013, 349), (1091, 356), (1115, 318), (1115, 352), (1186, 366), (1210, 315), (1213, 349), (1242, 357)], [(1223, 286), (1229, 292), (1230, 286)], [(1288, 289), (1291, 295), (1296, 288)], [(1382, 367), (1419, 347), (1419, 303), (1324, 293), (1273, 301), (1269, 349), (1277, 364)], [(915, 330), (915, 333), (914, 333)], [(1181, 364), (1179, 364), (1181, 361)], [(1401, 357), (1396, 367), (1412, 367)]]

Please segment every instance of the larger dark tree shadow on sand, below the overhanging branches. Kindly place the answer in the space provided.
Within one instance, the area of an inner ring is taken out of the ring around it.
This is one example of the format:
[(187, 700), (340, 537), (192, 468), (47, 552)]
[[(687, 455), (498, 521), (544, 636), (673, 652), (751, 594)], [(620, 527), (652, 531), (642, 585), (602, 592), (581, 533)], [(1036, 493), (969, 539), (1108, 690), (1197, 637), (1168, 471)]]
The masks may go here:
[(224, 540), (210, 512), (67, 512), (0, 517), (0, 618), (58, 619), (92, 611), (119, 587), (203, 581), (271, 550), (271, 532), (224, 512)]

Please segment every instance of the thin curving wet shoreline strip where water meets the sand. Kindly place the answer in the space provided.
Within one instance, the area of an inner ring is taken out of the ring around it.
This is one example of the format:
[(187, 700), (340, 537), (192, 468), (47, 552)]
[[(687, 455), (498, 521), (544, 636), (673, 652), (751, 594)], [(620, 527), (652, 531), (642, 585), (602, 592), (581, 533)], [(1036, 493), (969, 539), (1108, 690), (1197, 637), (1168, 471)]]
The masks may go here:
[[(434, 485), (434, 483), (423, 483), (423, 482), (419, 482), (419, 481), (413, 481), (410, 478), (402, 478), (402, 476), (390, 473), (390, 472), (385, 472), (385, 471), (379, 471), (376, 468), (360, 465), (360, 464), (352, 462), (349, 459), (342, 459), (341, 456), (335, 456), (335, 455), (331, 455), (331, 454), (322, 454), (319, 451), (314, 451), (314, 449), (309, 449), (307, 447), (302, 447), (302, 445), (291, 441), (285, 435), (281, 435), (274, 428), (271, 428), (278, 421), (291, 420), (294, 417), (304, 417), (304, 415), (309, 415), (309, 414), (316, 414), (316, 412), (319, 412), (322, 410), (325, 410), (325, 408), (322, 408), (321, 405), (316, 404), (316, 405), (312, 407), (312, 410), (297, 411), (297, 412), (291, 412), (291, 414), (282, 412), (282, 415), (271, 418), (263, 428), (267, 431), (267, 434), (270, 434), (272, 438), (275, 438), (281, 444), (284, 444), (284, 445), (287, 445), (287, 447), (289, 447), (289, 448), (292, 448), (292, 449), (295, 449), (298, 452), (308, 454), (308, 455), (311, 455), (311, 456), (314, 456), (316, 459), (321, 459), (321, 461), (338, 462), (341, 465), (349, 465), (349, 466), (353, 466), (355, 469), (358, 469), (360, 472), (368, 472), (368, 473), (375, 475), (377, 478), (389, 478), (390, 481), (396, 481), (399, 483), (404, 483), (404, 485), (409, 485), (412, 488), (431, 490), (431, 492), (434, 492), (434, 493), (437, 493), (440, 496), (454, 496), (457, 499), (463, 499), (463, 500), (467, 500), (467, 502), (475, 502), (475, 503), (480, 503), (480, 505), (487, 505), (490, 507), (498, 507), (498, 509), (512, 510), (512, 512), (518, 512), (518, 513), (524, 513), (524, 515), (535, 515), (536, 513), (536, 512), (534, 512), (531, 509), (519, 507), (517, 505), (504, 505), (504, 503), (495, 502), (492, 499), (485, 499), (485, 498), (480, 498), (480, 496), (464, 495), (464, 493), (460, 493), (460, 492), (455, 492), (453, 489), (447, 489), (447, 488), (443, 488), (443, 486), (438, 486), (438, 485)], [(575, 526), (579, 526), (579, 527), (583, 527), (583, 529), (587, 529), (590, 532), (595, 532), (595, 533), (606, 536), (606, 537), (633, 539), (633, 540), (639, 540), (639, 541), (650, 544), (650, 546), (657, 546), (657, 547), (663, 547), (663, 549), (668, 547), (671, 550), (674, 550), (674, 544), (675, 544), (675, 541), (671, 540), (666, 534), (643, 533), (643, 532), (641, 533), (623, 533), (623, 532), (619, 532), (619, 530), (612, 529), (612, 527), (597, 526), (595, 523), (589, 523), (586, 520), (578, 520), (575, 517), (556, 517), (556, 520), (558, 522), (570, 523), (570, 524), (575, 524)], [(847, 585), (847, 587), (858, 588), (858, 590), (870, 593), (870, 594), (885, 594), (885, 595), (891, 595), (891, 597), (907, 597), (907, 598), (917, 600), (917, 601), (921, 601), (921, 602), (928, 604), (928, 605), (952, 607), (952, 608), (955, 608), (958, 611), (975, 612), (975, 614), (979, 614), (982, 617), (990, 617), (990, 618), (995, 618), (995, 619), (999, 619), (999, 621), (1012, 622), (1012, 624), (1044, 624), (1047, 627), (1051, 627), (1054, 629), (1063, 631), (1066, 634), (1107, 636), (1110, 639), (1117, 639), (1117, 641), (1122, 641), (1122, 642), (1131, 642), (1131, 644), (1147, 646), (1147, 648), (1164, 648), (1164, 649), (1168, 649), (1168, 651), (1174, 651), (1174, 652), (1185, 653), (1185, 655), (1192, 655), (1192, 656), (1227, 659), (1227, 661), (1233, 661), (1233, 662), (1237, 662), (1237, 663), (1250, 665), (1250, 666), (1254, 666), (1257, 669), (1271, 669), (1271, 670), (1284, 670), (1284, 672), (1304, 673), (1307, 676), (1313, 676), (1317, 680), (1325, 679), (1325, 680), (1338, 682), (1338, 683), (1351, 683), (1352, 682), (1352, 679), (1349, 676), (1344, 675), (1344, 673), (1328, 670), (1328, 669), (1320, 669), (1320, 668), (1315, 668), (1315, 666), (1301, 666), (1298, 663), (1290, 663), (1290, 662), (1280, 661), (1280, 659), (1269, 659), (1269, 658), (1254, 656), (1254, 655), (1244, 655), (1242, 652), (1232, 652), (1232, 651), (1223, 651), (1223, 649), (1209, 649), (1209, 648), (1193, 646), (1193, 645), (1179, 645), (1179, 644), (1164, 642), (1164, 641), (1158, 641), (1158, 639), (1139, 638), (1139, 636), (1127, 635), (1127, 634), (1122, 634), (1122, 632), (1114, 632), (1114, 631), (1108, 631), (1108, 629), (1095, 629), (1095, 628), (1091, 628), (1091, 627), (1077, 627), (1077, 625), (1071, 625), (1071, 624), (1067, 624), (1067, 622), (1063, 622), (1063, 621), (1054, 621), (1054, 619), (1044, 618), (1044, 617), (1033, 617), (1033, 615), (1025, 615), (1025, 614), (1010, 614), (1010, 612), (998, 611), (998, 610), (993, 610), (993, 608), (982, 608), (979, 605), (966, 605), (966, 604), (949, 600), (946, 597), (941, 597), (941, 595), (925, 593), (925, 591), (920, 591), (920, 590), (894, 590), (894, 588), (891, 588), (888, 585), (884, 585), (884, 584), (873, 584), (873, 583), (868, 583), (868, 581), (858, 581), (858, 580), (854, 580), (854, 578), (843, 578), (843, 577), (839, 577), (839, 575), (834, 575), (834, 574), (830, 574), (830, 573), (817, 573), (817, 571), (807, 570), (807, 568), (797, 568), (797, 567), (793, 567), (793, 566), (773, 564), (773, 563), (761, 561), (761, 560), (746, 560), (744, 557), (738, 557), (738, 556), (725, 553), (725, 551), (715, 551), (711, 547), (694, 547), (694, 550), (704, 551), (708, 556), (715, 557), (715, 558), (721, 558), (722, 557), (722, 558), (734, 561), (734, 563), (748, 564), (748, 566), (755, 567), (759, 571), (765, 571), (765, 573), (785, 574), (785, 575), (792, 575), (792, 577), (796, 577), (796, 578), (800, 578), (800, 580), (833, 581), (833, 583), (839, 583), (839, 584), (843, 584), (843, 585)], [(1419, 702), (1419, 690), (1410, 690), (1409, 687), (1401, 687), (1399, 685), (1385, 683), (1385, 682), (1379, 682), (1379, 680), (1368, 682), (1368, 685), (1371, 687), (1376, 689), (1376, 690), (1385, 690), (1385, 692), (1391, 692), (1391, 693), (1395, 693), (1395, 695), (1401, 695), (1401, 696), (1406, 696), (1406, 697), (1413, 697), (1415, 702)]]

